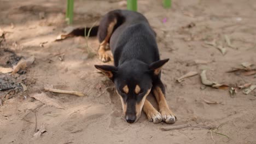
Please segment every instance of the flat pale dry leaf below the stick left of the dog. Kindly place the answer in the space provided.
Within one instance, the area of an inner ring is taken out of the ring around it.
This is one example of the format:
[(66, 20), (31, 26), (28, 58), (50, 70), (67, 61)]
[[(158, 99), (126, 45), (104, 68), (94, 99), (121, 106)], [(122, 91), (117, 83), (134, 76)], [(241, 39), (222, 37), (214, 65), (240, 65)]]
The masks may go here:
[(58, 109), (63, 109), (63, 106), (56, 99), (49, 98), (45, 93), (32, 94), (31, 97), (41, 101), (46, 105), (51, 105), (57, 107)]

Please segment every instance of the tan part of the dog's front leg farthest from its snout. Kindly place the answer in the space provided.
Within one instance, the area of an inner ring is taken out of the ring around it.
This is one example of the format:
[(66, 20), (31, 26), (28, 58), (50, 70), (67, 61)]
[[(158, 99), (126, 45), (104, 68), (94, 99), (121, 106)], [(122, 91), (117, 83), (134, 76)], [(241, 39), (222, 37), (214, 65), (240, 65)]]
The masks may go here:
[(167, 105), (165, 95), (162, 93), (162, 90), (160, 87), (156, 87), (154, 90), (154, 95), (156, 100), (158, 101), (159, 105), (159, 112), (162, 115), (162, 120), (166, 123), (173, 124), (176, 121), (176, 117), (174, 113), (169, 109), (169, 106)]

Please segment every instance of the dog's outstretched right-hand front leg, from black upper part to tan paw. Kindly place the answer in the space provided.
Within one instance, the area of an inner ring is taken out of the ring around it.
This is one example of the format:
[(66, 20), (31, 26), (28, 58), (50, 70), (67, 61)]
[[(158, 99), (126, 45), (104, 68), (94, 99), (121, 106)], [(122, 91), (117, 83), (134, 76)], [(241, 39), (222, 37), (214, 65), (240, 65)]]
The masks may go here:
[(162, 120), (170, 124), (175, 123), (177, 118), (169, 109), (165, 99), (165, 86), (162, 84), (160, 78), (153, 83), (153, 93), (155, 95), (156, 101), (158, 101), (159, 112), (161, 113)]

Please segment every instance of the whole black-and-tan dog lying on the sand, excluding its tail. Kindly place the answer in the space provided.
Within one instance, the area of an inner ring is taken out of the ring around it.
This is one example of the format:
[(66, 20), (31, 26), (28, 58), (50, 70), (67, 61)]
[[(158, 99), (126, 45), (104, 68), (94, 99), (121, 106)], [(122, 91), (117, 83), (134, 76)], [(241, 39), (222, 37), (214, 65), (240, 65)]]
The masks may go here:
[[(134, 11), (114, 10), (106, 14), (98, 27), (98, 55), (103, 62), (110, 60), (107, 45), (113, 53), (114, 66), (95, 65), (115, 83), (121, 98), (126, 121), (136, 122), (142, 108), (149, 121), (174, 123), (176, 117), (165, 100), (161, 67), (168, 59), (160, 60), (155, 32), (146, 17)], [(146, 99), (153, 92), (160, 113)]]

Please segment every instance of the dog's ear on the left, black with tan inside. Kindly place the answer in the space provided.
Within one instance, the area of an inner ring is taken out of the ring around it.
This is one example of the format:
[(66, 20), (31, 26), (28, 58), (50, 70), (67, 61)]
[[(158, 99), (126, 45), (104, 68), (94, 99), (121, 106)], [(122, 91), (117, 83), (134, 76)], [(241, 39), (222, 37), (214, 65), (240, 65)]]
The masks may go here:
[(113, 80), (114, 74), (118, 71), (118, 68), (112, 65), (94, 65), (94, 67), (101, 70), (111, 80)]

